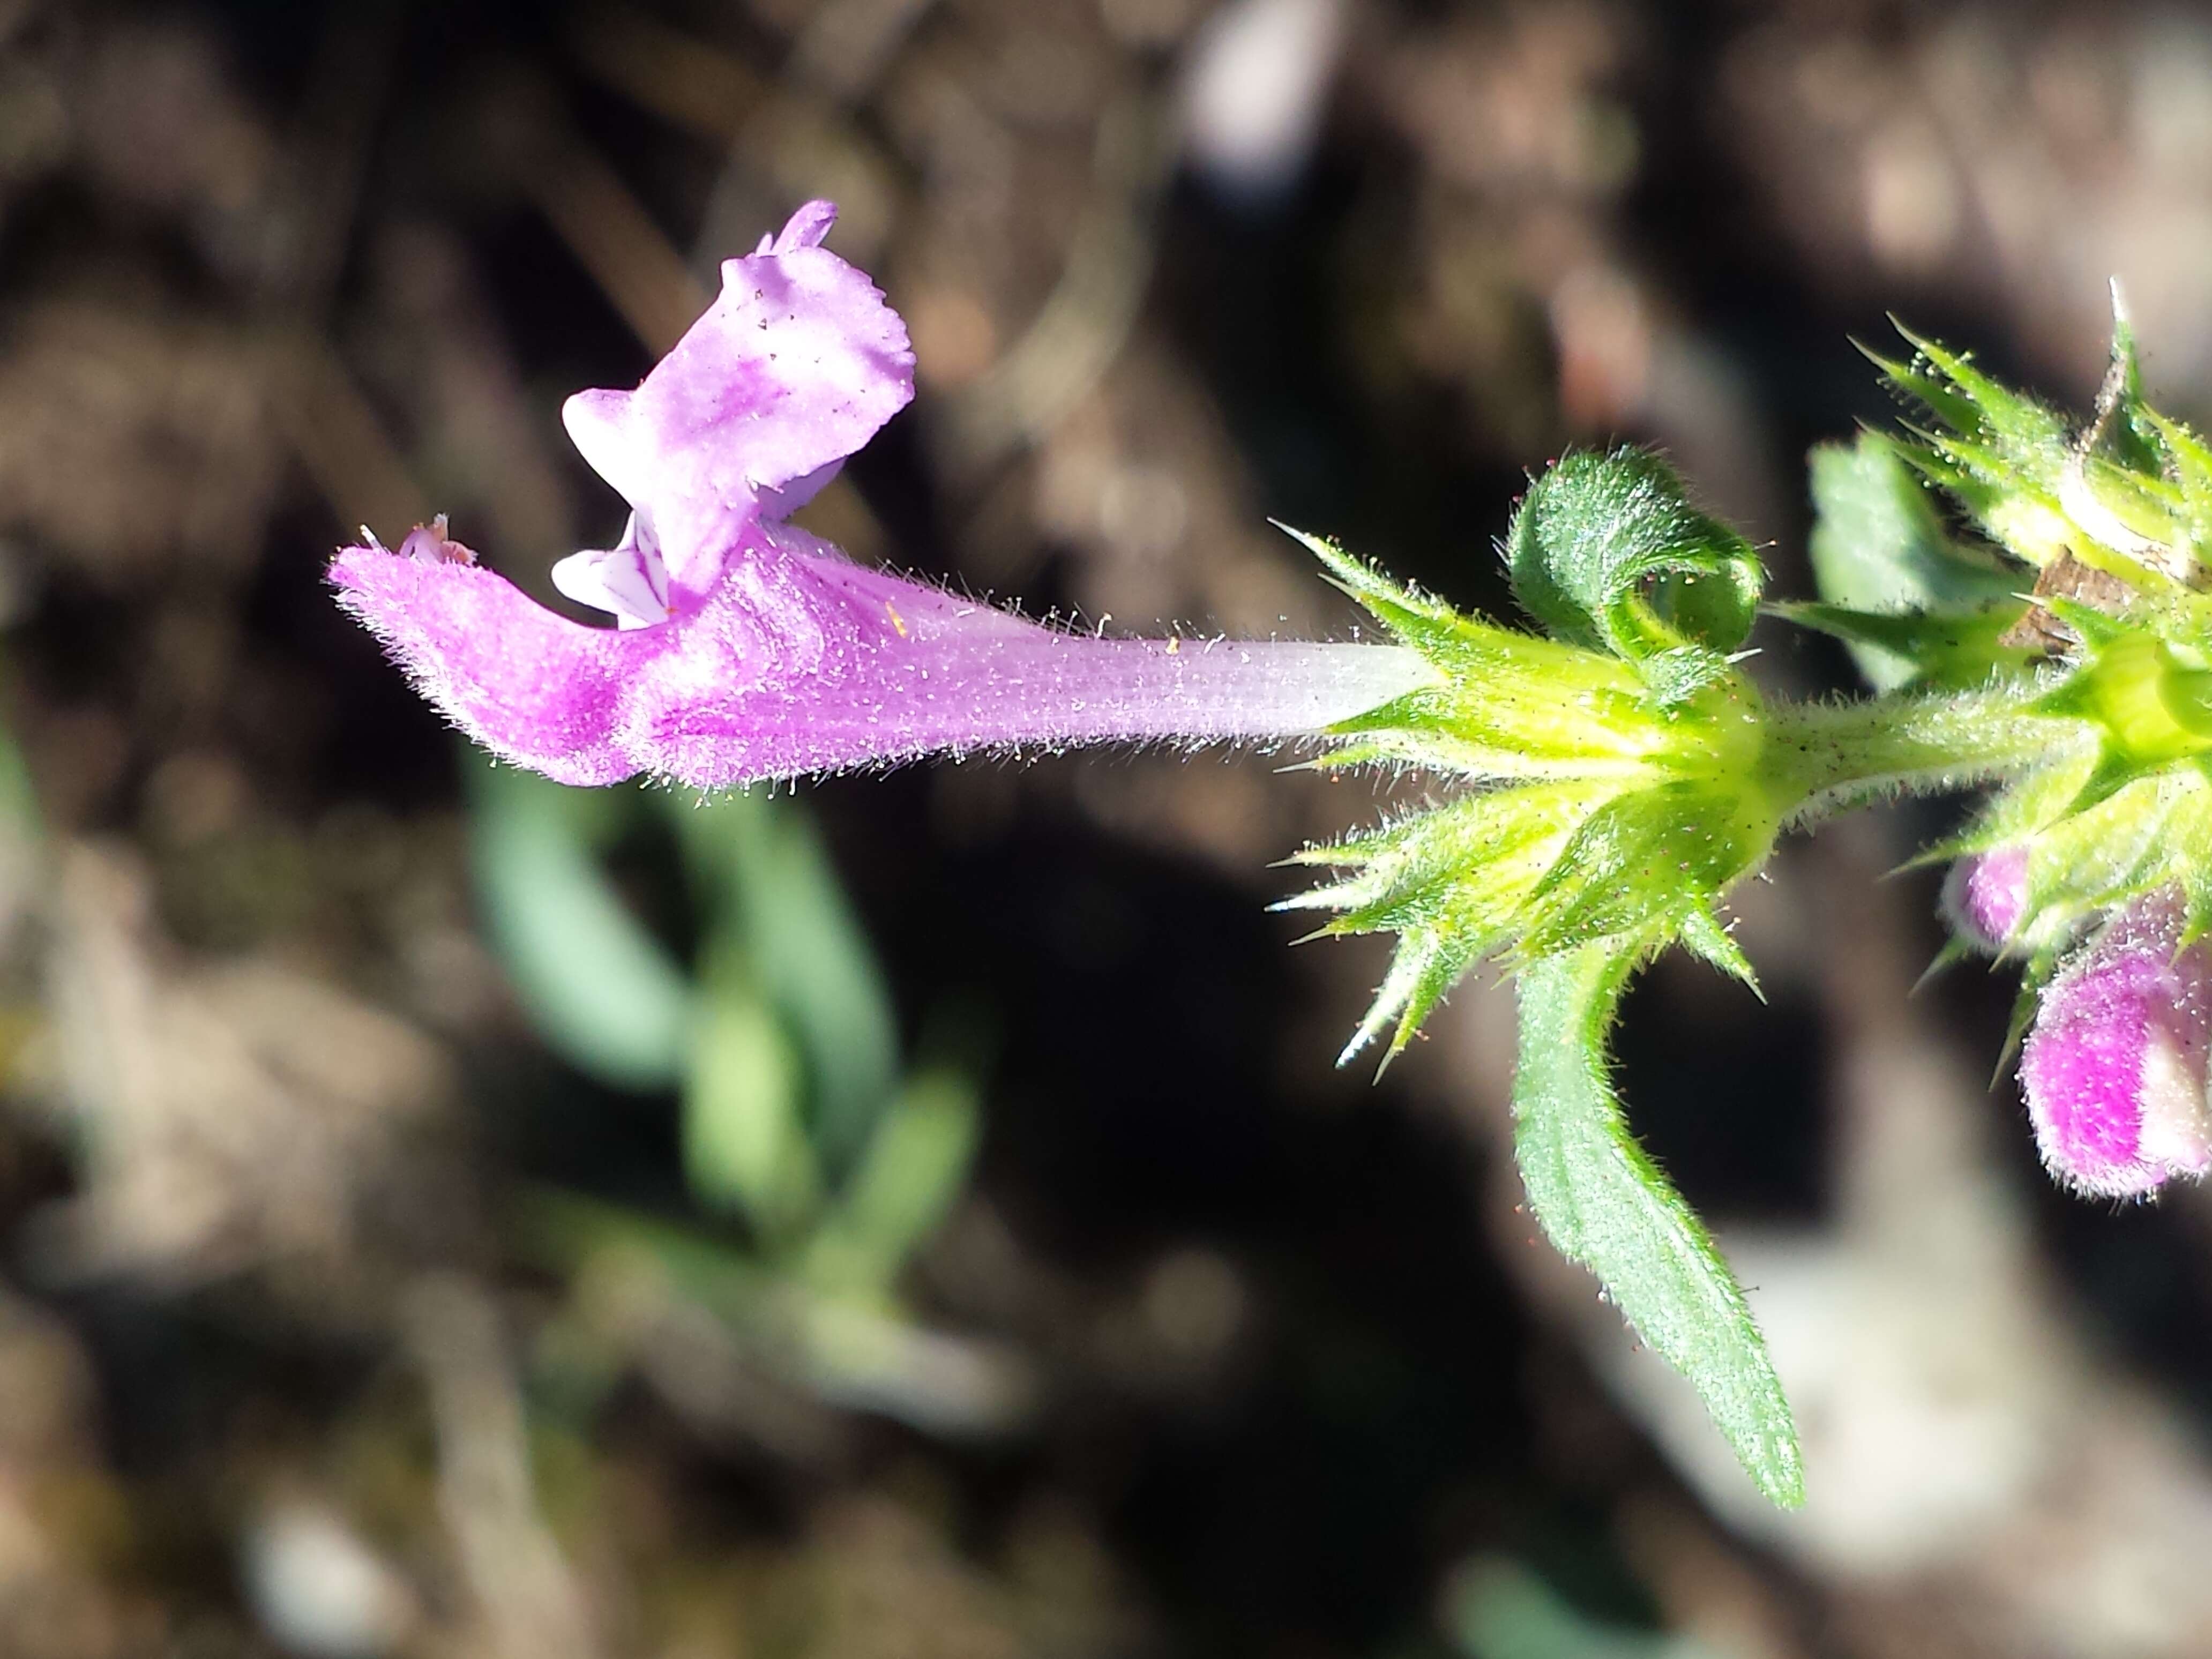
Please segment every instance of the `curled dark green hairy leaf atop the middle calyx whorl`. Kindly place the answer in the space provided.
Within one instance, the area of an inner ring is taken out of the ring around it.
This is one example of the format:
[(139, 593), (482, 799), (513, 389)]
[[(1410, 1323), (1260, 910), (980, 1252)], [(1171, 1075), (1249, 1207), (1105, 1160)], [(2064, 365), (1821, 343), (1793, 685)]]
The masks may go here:
[(1513, 595), (1555, 637), (1641, 661), (1681, 646), (1728, 653), (1759, 613), (1750, 542), (1690, 507), (1652, 453), (1562, 458), (1506, 531)]

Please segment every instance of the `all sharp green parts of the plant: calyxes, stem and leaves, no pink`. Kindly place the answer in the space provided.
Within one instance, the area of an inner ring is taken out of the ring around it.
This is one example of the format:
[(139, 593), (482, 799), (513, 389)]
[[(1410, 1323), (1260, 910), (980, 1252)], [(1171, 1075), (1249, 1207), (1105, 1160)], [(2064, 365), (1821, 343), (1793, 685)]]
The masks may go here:
[(2073, 429), (1907, 334), (1880, 367), (1929, 420), (1814, 451), (1820, 597), (1770, 615), (1840, 639), (1876, 688), (1774, 701), (1743, 672), (1750, 544), (1648, 453), (1533, 480), (1500, 544), (1522, 633), (1396, 584), (1329, 542), (1332, 577), (1436, 670), (1332, 730), (1314, 765), (1425, 772), (1440, 799), (1294, 863), (1283, 909), (1396, 933), (1345, 1048), (1413, 1037), (1480, 960), (1517, 989), (1515, 1157), (1546, 1237), (1699, 1389), (1745, 1471), (1803, 1495), (1750, 1305), (1637, 1144), (1608, 1035), (1637, 967), (1683, 945), (1752, 982), (1730, 887), (1785, 827), (1900, 792), (1993, 790), (1927, 858), (2026, 847), (2011, 949), (2033, 989), (2097, 914), (2152, 889), (2212, 931), (2212, 449), (2143, 403), (2121, 316)]

